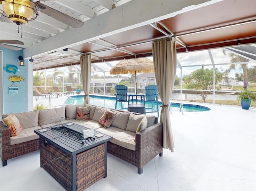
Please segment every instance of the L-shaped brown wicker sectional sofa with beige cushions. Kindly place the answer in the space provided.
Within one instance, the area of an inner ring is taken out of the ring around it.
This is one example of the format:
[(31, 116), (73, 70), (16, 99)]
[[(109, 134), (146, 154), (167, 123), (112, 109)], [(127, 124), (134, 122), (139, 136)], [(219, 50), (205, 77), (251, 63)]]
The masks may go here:
[[(39, 149), (39, 136), (34, 130), (50, 127), (52, 118), (66, 117), (82, 126), (93, 126), (102, 134), (113, 136), (107, 144), (107, 152), (135, 165), (138, 173), (143, 172), (146, 165), (157, 155), (162, 156), (162, 124), (158, 118), (150, 115), (126, 112), (111, 109), (116, 113), (109, 128), (102, 127), (99, 119), (108, 108), (90, 106), (90, 120), (76, 120), (76, 107), (84, 105), (66, 105), (66, 107), (46, 110), (36, 110), (15, 114), (23, 130), (16, 137), (10, 137), (9, 128), (0, 121), (0, 157), (2, 165), (7, 165), (7, 160)], [(8, 115), (3, 115), (4, 119)], [(142, 118), (146, 116), (147, 128), (136, 133)], [(134, 142), (134, 136), (136, 142)]]

